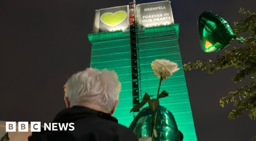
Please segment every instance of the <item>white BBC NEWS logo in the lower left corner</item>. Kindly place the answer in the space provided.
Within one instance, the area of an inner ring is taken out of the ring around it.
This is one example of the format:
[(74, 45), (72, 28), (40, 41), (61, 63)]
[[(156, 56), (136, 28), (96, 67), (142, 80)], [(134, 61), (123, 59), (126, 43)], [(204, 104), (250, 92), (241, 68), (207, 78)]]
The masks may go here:
[[(6, 132), (16, 132), (16, 126), (18, 127), (18, 132), (28, 132), (29, 124), (28, 122), (6, 122), (5, 131)], [(42, 128), (44, 131), (73, 131), (74, 123), (44, 123)], [(41, 122), (30, 122), (31, 132), (41, 132)]]

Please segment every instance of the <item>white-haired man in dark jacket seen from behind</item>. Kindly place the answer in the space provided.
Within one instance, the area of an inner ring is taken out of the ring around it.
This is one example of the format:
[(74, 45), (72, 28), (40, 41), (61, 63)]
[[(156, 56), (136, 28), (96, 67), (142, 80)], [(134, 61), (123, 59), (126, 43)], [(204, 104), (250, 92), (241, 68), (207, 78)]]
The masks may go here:
[(33, 133), (29, 141), (138, 141), (112, 117), (120, 88), (114, 71), (87, 68), (72, 75), (64, 85), (67, 109), (53, 123), (74, 123), (74, 130)]

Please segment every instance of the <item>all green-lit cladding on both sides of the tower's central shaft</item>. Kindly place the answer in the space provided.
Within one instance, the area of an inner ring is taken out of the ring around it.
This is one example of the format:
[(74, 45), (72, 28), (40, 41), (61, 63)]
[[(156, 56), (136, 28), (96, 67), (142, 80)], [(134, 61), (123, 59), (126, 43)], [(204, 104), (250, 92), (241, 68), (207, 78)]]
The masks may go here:
[[(166, 90), (170, 95), (160, 99), (160, 104), (173, 113), (178, 129), (184, 134), (183, 141), (197, 141), (182, 68), (178, 31), (178, 24), (138, 30), (140, 96), (145, 92), (150, 95), (157, 93), (159, 78), (154, 75), (150, 66), (153, 60), (170, 59), (178, 63), (180, 71), (174, 73), (161, 85), (161, 90)], [(118, 73), (122, 89), (114, 117), (117, 117), (120, 124), (129, 126), (133, 120), (133, 114), (130, 114), (132, 108), (130, 31), (89, 34), (88, 39), (92, 44), (91, 66), (100, 70), (112, 69)]]

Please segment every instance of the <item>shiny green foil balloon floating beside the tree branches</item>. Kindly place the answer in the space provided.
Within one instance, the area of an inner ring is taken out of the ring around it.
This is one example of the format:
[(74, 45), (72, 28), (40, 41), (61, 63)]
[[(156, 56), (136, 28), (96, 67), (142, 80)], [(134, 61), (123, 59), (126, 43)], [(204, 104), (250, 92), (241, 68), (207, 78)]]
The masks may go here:
[(199, 16), (198, 32), (201, 48), (207, 53), (220, 51), (236, 39), (228, 22), (213, 12), (203, 12)]

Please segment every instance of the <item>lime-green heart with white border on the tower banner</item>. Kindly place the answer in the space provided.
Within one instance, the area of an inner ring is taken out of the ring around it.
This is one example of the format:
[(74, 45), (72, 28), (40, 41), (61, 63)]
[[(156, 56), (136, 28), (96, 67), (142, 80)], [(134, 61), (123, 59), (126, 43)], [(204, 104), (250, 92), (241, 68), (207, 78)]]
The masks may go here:
[(117, 11), (115, 13), (107, 12), (100, 16), (100, 20), (109, 26), (116, 26), (125, 20), (127, 14), (125, 11)]

